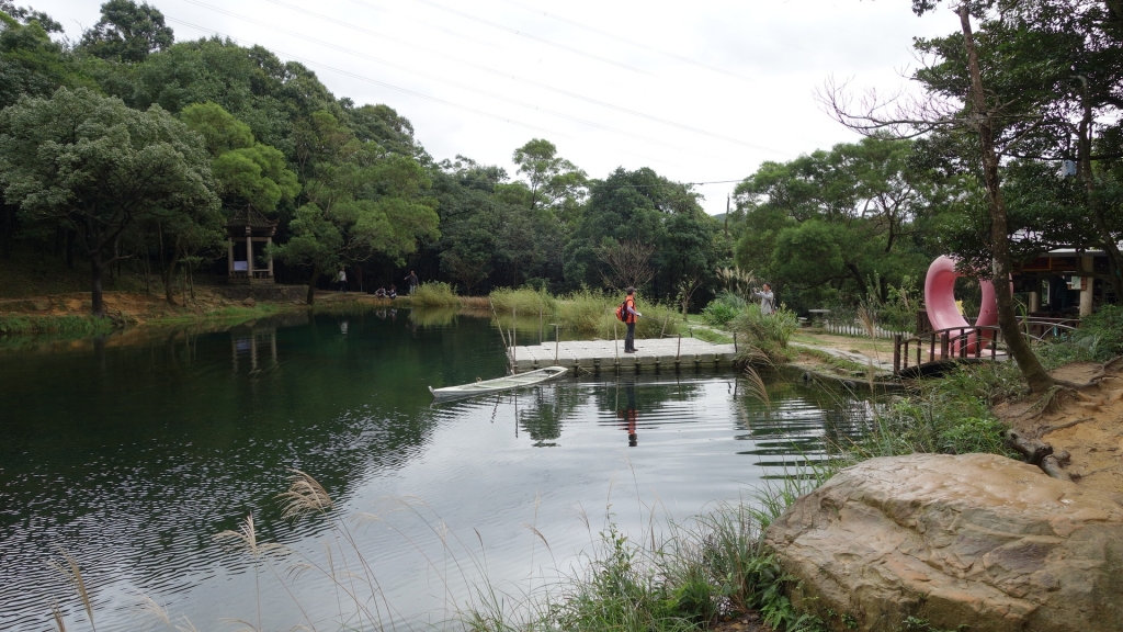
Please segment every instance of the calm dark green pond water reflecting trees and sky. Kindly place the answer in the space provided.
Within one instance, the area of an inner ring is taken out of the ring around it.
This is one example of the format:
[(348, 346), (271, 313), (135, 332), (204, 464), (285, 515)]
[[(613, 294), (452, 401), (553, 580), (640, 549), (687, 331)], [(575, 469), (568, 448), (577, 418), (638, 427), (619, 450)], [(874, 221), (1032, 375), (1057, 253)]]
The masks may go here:
[[(200, 630), (256, 624), (258, 604), (267, 630), (358, 628), (323, 575), (277, 584), (302, 556), (325, 562), (339, 533), (281, 520), (290, 468), (339, 515), (378, 516), (345, 523), (381, 586), (371, 611), (439, 626), (484, 576), (518, 594), (570, 570), (609, 522), (643, 533), (652, 512), (747, 498), (824, 436), (860, 432), (868, 409), (779, 382), (766, 409), (732, 376), (693, 372), (430, 406), (427, 386), (504, 363), (486, 319), (405, 310), (0, 353), (0, 630), (52, 628), (52, 597), (69, 630), (89, 630), (45, 563), (58, 545), (102, 632), (146, 624), (139, 594)], [(212, 540), (250, 513), (262, 542), (292, 552), (255, 567)]]

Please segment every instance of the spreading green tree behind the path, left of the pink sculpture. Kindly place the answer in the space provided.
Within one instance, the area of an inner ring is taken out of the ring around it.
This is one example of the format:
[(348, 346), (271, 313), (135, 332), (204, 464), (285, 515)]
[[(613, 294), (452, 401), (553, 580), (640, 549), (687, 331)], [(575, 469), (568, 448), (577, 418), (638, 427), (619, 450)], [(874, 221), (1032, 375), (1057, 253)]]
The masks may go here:
[[(737, 187), (738, 264), (801, 298), (851, 300), (923, 271), (932, 186), (911, 168), (912, 143), (869, 137), (786, 163), (766, 162)], [(810, 255), (809, 253), (818, 253)], [(875, 282), (875, 287), (870, 283)]]

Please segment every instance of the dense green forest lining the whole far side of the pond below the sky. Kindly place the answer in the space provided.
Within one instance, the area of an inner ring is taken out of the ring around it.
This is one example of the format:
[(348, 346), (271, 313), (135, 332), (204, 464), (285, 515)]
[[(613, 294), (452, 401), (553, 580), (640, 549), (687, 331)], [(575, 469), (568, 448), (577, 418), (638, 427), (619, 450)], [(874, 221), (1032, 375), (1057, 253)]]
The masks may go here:
[[(515, 173), (436, 160), (393, 108), (336, 97), (262, 47), (176, 42), (148, 4), (110, 0), (71, 42), (53, 16), (0, 0), (0, 261), (88, 268), (95, 310), (122, 270), (173, 300), (185, 271), (225, 273), (225, 224), (253, 210), (279, 223), (282, 283), (326, 286), (340, 268), (356, 286), (412, 269), (463, 294), (638, 279), (661, 300), (700, 288), (697, 308), (739, 267), (806, 309), (889, 300), (938, 254), (988, 269), (998, 195), (1013, 261), (1105, 250), (1123, 296), (1120, 8), (974, 10), (989, 150), (964, 35), (917, 39), (922, 98), (827, 85), (824, 109), (865, 137), (764, 163), (719, 220), (690, 184), (647, 168), (591, 177), (542, 138), (512, 148)], [(636, 261), (650, 273), (622, 273)]]

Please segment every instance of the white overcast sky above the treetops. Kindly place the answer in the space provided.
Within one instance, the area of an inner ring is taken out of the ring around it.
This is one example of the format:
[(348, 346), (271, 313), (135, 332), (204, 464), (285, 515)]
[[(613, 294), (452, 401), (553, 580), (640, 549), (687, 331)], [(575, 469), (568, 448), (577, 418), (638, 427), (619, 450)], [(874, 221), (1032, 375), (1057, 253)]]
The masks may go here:
[[(98, 0), (22, 0), (76, 38)], [(150, 0), (177, 39), (210, 34), (304, 62), (337, 97), (387, 103), (437, 160), (513, 174), (544, 137), (591, 177), (650, 166), (740, 180), (852, 141), (814, 99), (830, 78), (892, 89), (914, 36), (956, 30), (910, 0)], [(189, 26), (190, 25), (190, 26)], [(687, 129), (691, 128), (691, 129)], [(709, 213), (734, 183), (702, 184)]]

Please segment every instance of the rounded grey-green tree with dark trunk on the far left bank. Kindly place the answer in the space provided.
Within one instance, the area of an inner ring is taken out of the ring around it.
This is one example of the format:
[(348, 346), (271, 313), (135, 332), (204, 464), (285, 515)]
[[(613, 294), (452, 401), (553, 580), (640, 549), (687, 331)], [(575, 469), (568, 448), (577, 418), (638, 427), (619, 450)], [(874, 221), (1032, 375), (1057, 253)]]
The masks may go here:
[(128, 108), (86, 89), (20, 99), (0, 112), (0, 186), (33, 222), (75, 231), (90, 258), (93, 314), (121, 238), (145, 220), (216, 208), (198, 134), (158, 107)]

